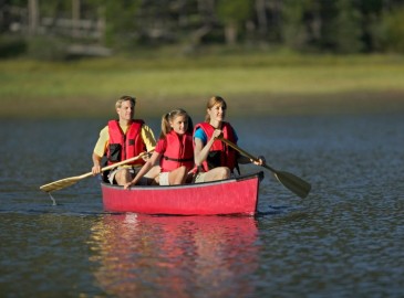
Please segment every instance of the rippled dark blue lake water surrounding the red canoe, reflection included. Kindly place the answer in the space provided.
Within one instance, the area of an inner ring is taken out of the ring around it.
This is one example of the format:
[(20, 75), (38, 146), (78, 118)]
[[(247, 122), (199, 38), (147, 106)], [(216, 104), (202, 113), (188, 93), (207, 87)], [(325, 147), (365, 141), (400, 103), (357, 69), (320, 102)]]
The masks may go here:
[(403, 297), (403, 115), (232, 119), (313, 188), (266, 171), (257, 217), (111, 214), (95, 178), (53, 205), (39, 187), (90, 171), (105, 119), (0, 123), (1, 297)]

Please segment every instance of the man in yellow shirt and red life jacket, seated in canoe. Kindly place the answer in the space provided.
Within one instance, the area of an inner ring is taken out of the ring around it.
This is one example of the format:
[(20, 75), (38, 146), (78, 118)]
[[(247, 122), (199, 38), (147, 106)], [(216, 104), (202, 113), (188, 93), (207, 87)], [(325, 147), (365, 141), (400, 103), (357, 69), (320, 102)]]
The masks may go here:
[[(93, 151), (93, 174), (101, 173), (101, 160), (106, 155), (107, 163), (137, 157), (148, 152), (156, 146), (152, 129), (141, 119), (134, 119), (136, 99), (122, 96), (115, 104), (117, 120), (110, 120), (101, 132)], [(133, 180), (145, 161), (141, 158), (131, 163), (117, 167), (108, 173), (111, 184), (124, 185)], [(159, 172), (152, 168), (139, 184), (148, 184)]]

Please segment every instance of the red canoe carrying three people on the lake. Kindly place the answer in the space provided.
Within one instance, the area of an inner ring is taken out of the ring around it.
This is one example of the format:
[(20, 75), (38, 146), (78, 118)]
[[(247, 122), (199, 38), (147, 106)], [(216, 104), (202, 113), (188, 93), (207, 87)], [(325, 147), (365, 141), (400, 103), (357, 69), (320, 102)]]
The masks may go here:
[(206, 183), (123, 187), (101, 183), (104, 210), (172, 215), (255, 215), (263, 172)]

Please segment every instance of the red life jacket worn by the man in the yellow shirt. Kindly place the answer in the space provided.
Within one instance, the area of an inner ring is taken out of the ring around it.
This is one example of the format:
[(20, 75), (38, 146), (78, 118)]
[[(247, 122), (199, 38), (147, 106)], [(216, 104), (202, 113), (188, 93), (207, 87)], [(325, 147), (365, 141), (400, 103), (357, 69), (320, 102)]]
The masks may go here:
[[(126, 134), (121, 129), (118, 120), (108, 121), (110, 141), (106, 149), (108, 164), (137, 157), (146, 151), (146, 145), (142, 138), (143, 120), (132, 120)], [(145, 161), (139, 158), (128, 164), (144, 164)]]

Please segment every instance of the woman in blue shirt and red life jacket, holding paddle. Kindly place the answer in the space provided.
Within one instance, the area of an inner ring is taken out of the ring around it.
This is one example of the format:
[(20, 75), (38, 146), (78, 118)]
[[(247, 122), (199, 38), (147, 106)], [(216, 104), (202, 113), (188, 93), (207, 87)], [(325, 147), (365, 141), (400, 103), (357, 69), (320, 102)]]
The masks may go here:
[[(222, 137), (234, 143), (237, 143), (238, 140), (236, 130), (225, 121), (226, 109), (227, 104), (222, 97), (209, 98), (205, 123), (195, 126), (195, 164), (200, 169), (195, 182), (228, 179), (235, 169), (238, 173), (240, 172), (238, 163), (251, 162), (250, 159), (240, 156), (238, 151), (217, 139)], [(260, 157), (259, 162), (255, 163), (261, 166), (263, 162), (263, 158)]]

